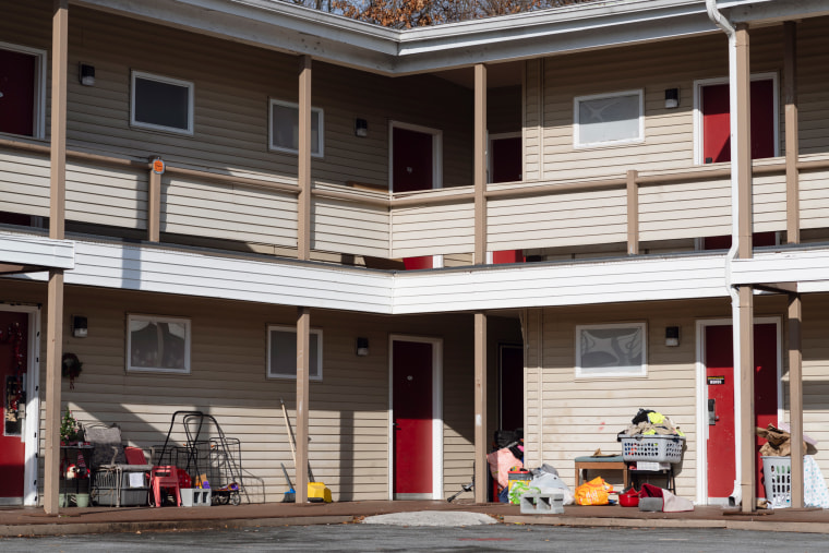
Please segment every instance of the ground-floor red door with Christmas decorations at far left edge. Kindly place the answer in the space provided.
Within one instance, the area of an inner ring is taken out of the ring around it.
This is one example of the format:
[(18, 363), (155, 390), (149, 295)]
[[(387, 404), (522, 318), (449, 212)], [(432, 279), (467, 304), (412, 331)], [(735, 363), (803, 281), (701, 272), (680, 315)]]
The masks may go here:
[(0, 383), (3, 389), (3, 400), (0, 402), (3, 424), (0, 435), (0, 503), (10, 497), (23, 497), (26, 447), (21, 407), (25, 402), (23, 383), (27, 345), (28, 315), (0, 311)]

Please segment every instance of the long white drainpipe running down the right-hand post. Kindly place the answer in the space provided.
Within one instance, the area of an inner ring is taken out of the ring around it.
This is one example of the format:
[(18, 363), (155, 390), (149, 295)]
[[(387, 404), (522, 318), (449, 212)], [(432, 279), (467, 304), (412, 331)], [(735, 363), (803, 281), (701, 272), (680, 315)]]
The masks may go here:
[[(708, 17), (714, 25), (720, 27), (725, 36), (729, 37), (729, 111), (733, 115), (736, 112), (737, 107), (737, 92), (734, 82), (736, 81), (736, 29), (729, 22), (729, 20), (717, 8), (717, 0), (706, 0), (706, 9), (708, 10)], [(725, 255), (725, 289), (731, 296), (731, 321), (732, 321), (732, 340), (734, 342), (734, 397), (738, 398), (740, 395), (740, 325), (734, 324), (735, 321), (740, 321), (740, 296), (736, 288), (731, 286), (731, 262), (737, 257), (737, 249), (740, 247), (740, 202), (738, 202), (738, 177), (740, 167), (737, 164), (737, 141), (741, 136), (737, 133), (737, 121), (735, 117), (731, 117), (731, 249)], [(734, 405), (738, 402), (735, 400)], [(740, 409), (734, 409), (734, 429), (740, 429), (741, 412)], [(734, 447), (735, 447), (735, 476), (734, 476), (734, 491), (729, 496), (729, 502), (734, 505), (740, 505), (742, 500), (742, 489), (740, 485), (742, 470), (740, 462), (740, 455), (742, 452), (741, 443), (743, 436), (741, 433), (734, 432)]]

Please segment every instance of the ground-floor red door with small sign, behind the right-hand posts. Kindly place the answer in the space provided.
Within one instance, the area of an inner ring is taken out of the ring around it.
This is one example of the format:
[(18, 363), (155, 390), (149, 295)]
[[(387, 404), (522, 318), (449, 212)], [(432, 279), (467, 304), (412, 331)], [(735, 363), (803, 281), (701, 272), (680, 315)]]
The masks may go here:
[[(707, 326), (705, 340), (708, 409), (709, 412), (713, 410), (717, 417), (714, 423), (708, 425), (708, 497), (723, 498), (731, 495), (736, 477), (734, 352), (731, 325)], [(755, 424), (760, 428), (778, 423), (777, 344), (776, 324), (754, 325)], [(711, 401), (714, 404), (711, 405)], [(758, 497), (765, 496), (761, 484), (762, 462), (759, 456), (761, 442), (759, 437), (755, 438)]]

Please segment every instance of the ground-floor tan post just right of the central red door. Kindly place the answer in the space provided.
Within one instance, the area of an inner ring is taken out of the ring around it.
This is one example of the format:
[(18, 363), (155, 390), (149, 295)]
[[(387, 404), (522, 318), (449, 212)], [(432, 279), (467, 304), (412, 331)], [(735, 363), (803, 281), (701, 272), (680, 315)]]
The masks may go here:
[(474, 314), (474, 501), (486, 503), (486, 314)]

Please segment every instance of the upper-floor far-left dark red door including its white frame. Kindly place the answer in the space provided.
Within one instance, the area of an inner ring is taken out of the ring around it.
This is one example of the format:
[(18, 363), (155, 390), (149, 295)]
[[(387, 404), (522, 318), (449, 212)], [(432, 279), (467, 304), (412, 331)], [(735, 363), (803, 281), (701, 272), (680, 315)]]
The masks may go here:
[(46, 136), (46, 50), (0, 41), (0, 133)]

